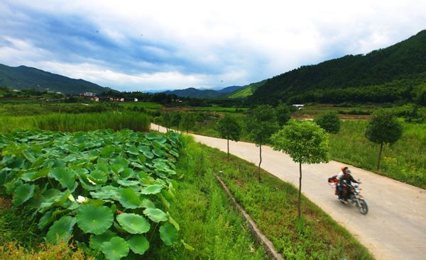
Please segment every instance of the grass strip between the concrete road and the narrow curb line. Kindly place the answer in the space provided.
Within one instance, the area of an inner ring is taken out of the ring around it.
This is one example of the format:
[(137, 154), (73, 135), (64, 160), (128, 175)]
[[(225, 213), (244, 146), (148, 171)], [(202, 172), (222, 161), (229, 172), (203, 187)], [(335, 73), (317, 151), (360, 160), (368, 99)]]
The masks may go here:
[[(302, 198), (303, 222), (297, 222), (297, 189), (261, 171), (237, 157), (226, 162), (226, 153), (200, 144), (193, 144), (197, 156), (192, 164), (206, 164), (210, 169), (197, 176), (217, 174), (229, 186), (236, 200), (251, 215), (263, 234), (271, 239), (285, 259), (372, 259), (368, 250), (329, 215), (307, 198)], [(208, 178), (212, 178), (209, 176)], [(244, 257), (241, 257), (244, 259)]]

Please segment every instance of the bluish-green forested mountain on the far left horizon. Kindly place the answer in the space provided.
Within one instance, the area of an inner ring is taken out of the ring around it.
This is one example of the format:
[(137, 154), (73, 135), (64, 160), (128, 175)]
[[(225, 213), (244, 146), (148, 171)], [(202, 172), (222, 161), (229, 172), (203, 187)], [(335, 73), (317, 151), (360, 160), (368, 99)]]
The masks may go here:
[(26, 66), (9, 67), (4, 64), (0, 64), (0, 86), (10, 89), (50, 89), (64, 94), (82, 92), (100, 94), (109, 90), (83, 79), (70, 79), (41, 69)]

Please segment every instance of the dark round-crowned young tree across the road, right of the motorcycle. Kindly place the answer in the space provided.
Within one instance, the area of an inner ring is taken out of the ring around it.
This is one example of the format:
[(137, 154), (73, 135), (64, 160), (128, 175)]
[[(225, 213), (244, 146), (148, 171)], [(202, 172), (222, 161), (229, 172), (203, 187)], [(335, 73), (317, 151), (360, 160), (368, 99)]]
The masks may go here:
[(380, 109), (371, 115), (366, 128), (366, 137), (371, 142), (380, 144), (378, 152), (377, 170), (380, 167), (383, 144), (393, 144), (403, 135), (403, 125), (398, 122), (393, 113)]

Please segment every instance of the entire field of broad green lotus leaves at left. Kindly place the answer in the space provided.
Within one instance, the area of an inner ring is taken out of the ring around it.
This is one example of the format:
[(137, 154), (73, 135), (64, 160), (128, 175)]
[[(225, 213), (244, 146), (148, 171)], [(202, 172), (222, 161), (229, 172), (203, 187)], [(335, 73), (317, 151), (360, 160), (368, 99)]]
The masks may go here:
[[(107, 259), (178, 239), (169, 215), (180, 135), (20, 130), (0, 135), (0, 186), (31, 210), (46, 242), (72, 237)], [(159, 234), (158, 234), (159, 232)]]

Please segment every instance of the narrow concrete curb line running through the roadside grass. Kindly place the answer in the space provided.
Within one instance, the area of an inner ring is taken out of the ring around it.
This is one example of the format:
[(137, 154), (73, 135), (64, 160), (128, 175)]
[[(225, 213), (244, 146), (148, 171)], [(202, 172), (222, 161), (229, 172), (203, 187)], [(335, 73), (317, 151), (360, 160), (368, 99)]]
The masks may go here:
[(256, 237), (256, 242), (258, 242), (258, 244), (261, 244), (263, 246), (263, 248), (266, 250), (266, 253), (268, 254), (269, 258), (270, 259), (277, 259), (277, 260), (284, 260), (283, 256), (278, 254), (278, 252), (276, 251), (271, 240), (269, 240), (268, 237), (266, 237), (261, 232), (261, 230), (258, 229), (256, 223), (251, 219), (250, 215), (248, 213), (246, 213), (246, 210), (244, 210), (244, 208), (241, 207), (241, 205), (239, 205), (239, 203), (236, 202), (236, 199), (234, 198), (234, 196), (232, 196), (231, 191), (229, 191), (228, 186), (226, 186), (226, 184), (222, 181), (222, 179), (220, 179), (219, 176), (216, 176), (216, 179), (222, 185), (222, 188), (224, 189), (224, 191), (226, 191), (226, 194), (231, 199), (231, 202), (232, 202), (232, 205), (234, 206), (234, 208), (239, 211), (239, 213), (242, 215), (244, 220), (246, 220), (246, 222), (249, 224), (249, 230), (254, 235), (254, 237)]

